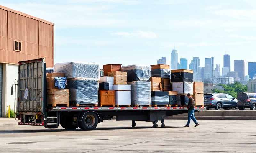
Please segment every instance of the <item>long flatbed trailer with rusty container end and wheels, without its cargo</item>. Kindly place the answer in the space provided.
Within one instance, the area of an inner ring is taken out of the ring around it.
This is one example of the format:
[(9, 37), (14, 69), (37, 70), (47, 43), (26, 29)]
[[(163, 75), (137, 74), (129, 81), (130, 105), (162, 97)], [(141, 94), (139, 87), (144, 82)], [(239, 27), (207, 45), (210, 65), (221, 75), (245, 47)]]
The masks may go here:
[[(167, 116), (187, 113), (186, 107), (51, 107), (47, 105), (46, 63), (43, 58), (19, 62), (19, 82), (17, 93), (17, 117), (19, 125), (38, 125), (45, 128), (58, 128), (61, 125), (68, 130), (81, 128), (93, 130), (104, 120), (148, 121), (156, 128)], [(195, 111), (205, 110), (195, 107)]]

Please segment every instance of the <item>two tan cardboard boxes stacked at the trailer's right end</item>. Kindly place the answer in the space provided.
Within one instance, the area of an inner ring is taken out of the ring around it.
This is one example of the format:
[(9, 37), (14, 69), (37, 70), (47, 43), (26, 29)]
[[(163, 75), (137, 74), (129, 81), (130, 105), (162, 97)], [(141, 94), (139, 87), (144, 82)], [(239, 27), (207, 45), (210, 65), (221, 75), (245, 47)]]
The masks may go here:
[(204, 83), (203, 82), (194, 82), (193, 98), (195, 100), (195, 106), (204, 106)]

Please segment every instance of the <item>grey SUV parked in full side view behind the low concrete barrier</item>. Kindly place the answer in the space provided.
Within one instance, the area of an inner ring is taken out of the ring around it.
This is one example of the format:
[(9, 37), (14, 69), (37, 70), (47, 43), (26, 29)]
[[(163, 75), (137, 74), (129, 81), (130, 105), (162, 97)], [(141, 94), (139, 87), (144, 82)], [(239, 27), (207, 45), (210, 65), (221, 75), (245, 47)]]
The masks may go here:
[(229, 110), (237, 107), (237, 99), (225, 93), (207, 93), (204, 94), (204, 104), (206, 104), (206, 109)]

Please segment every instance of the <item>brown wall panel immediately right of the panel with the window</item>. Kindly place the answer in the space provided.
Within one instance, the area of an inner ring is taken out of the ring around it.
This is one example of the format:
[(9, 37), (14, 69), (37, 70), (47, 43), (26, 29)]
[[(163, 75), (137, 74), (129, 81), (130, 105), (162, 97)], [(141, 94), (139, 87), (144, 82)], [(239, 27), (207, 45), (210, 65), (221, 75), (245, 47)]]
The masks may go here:
[[(38, 52), (38, 37), (39, 37), (39, 21), (34, 20), (32, 18), (26, 18), (27, 24), (26, 24), (26, 54), (30, 55), (37, 55), (34, 57), (38, 58), (39, 52)], [(26, 55), (26, 60), (28, 60), (28, 57), (32, 57), (29, 55)]]

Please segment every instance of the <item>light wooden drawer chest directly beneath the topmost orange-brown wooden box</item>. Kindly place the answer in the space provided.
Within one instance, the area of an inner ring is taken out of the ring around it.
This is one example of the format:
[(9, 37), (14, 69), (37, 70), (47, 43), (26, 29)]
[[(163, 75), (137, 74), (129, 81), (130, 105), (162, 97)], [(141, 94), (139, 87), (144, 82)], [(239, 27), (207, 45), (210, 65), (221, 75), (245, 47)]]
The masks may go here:
[(127, 72), (108, 72), (108, 76), (113, 77), (114, 84), (127, 84)]

